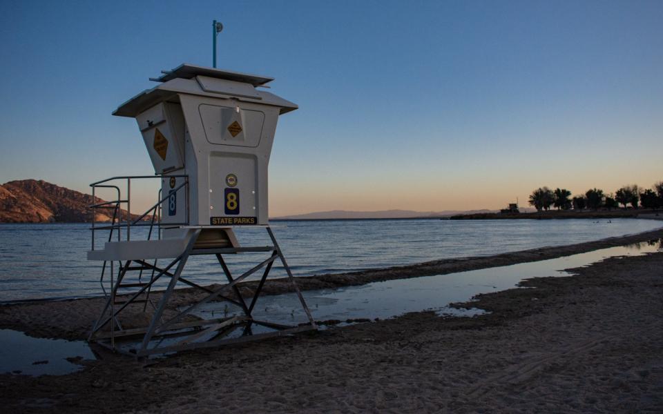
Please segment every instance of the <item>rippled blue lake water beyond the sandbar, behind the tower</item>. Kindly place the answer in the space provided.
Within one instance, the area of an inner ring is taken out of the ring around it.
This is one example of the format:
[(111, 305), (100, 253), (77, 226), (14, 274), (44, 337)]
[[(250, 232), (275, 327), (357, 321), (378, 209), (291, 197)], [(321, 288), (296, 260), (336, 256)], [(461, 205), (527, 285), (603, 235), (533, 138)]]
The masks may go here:
[[(295, 275), (310, 276), (561, 246), (662, 226), (645, 219), (347, 220), (278, 221), (273, 231)], [(86, 260), (88, 227), (0, 224), (0, 301), (99, 295), (101, 263)], [(132, 229), (132, 239), (144, 238), (140, 230)], [(269, 244), (264, 228), (237, 233), (244, 246)], [(264, 253), (229, 255), (227, 262), (239, 275), (262, 258)], [(213, 257), (192, 257), (184, 274), (204, 285), (222, 282), (220, 270)], [(275, 264), (272, 275), (285, 271)]]

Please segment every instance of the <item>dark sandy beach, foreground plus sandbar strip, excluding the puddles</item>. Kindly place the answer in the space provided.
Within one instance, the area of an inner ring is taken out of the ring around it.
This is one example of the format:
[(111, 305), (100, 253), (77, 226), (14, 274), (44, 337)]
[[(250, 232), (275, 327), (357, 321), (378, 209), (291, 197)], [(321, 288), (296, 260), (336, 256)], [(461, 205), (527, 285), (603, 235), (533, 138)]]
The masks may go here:
[[(661, 233), (430, 262), (419, 265), (419, 275), (559, 257)], [(415, 268), (341, 280), (412, 277)], [(70, 375), (0, 375), (0, 403), (21, 412), (659, 413), (662, 269), (663, 253), (615, 257), (574, 269), (571, 277), (528, 279), (522, 283), (526, 289), (456, 305), (490, 312), (477, 317), (412, 313), (182, 353), (147, 366), (109, 355)], [(271, 290), (276, 291), (278, 282)], [(0, 326), (81, 339), (98, 300), (3, 306)], [(54, 326), (46, 326), (45, 312), (57, 315)]]

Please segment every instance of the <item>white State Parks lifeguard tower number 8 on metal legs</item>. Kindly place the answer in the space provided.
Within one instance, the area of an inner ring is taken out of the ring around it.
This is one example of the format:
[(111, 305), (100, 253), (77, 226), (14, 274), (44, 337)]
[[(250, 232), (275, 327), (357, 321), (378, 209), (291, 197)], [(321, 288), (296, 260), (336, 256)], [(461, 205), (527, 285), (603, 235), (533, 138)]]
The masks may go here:
[[(137, 357), (191, 348), (219, 346), (316, 329), (291, 270), (269, 227), (267, 167), (279, 115), (296, 104), (267, 90), (272, 78), (182, 64), (151, 79), (160, 83), (122, 103), (113, 115), (133, 117), (152, 161), (155, 175), (113, 177), (90, 184), (93, 193), (92, 250), (88, 259), (103, 262), (102, 288), (110, 286), (90, 341)], [(160, 180), (155, 204), (131, 215), (131, 184)], [(99, 191), (117, 199), (100, 201)], [(110, 223), (97, 223), (102, 209)], [(126, 212), (123, 213), (123, 209)], [(264, 228), (269, 246), (240, 246), (233, 229)], [(99, 248), (99, 232), (106, 231)], [(140, 237), (137, 237), (140, 236)], [(95, 239), (96, 238), (96, 239)], [(240, 276), (231, 274), (225, 255), (265, 252), (267, 258)], [(220, 265), (222, 286), (208, 288), (184, 277), (187, 260), (212, 255)], [(287, 272), (307, 322), (294, 326), (252, 316), (274, 262)], [(262, 270), (253, 288), (240, 282)], [(160, 279), (165, 290), (152, 292)], [(257, 284), (256, 284), (257, 283)], [(194, 303), (173, 301), (175, 287), (198, 292)], [(131, 290), (128, 293), (127, 290)], [(201, 306), (227, 301), (241, 315), (201, 319)], [(149, 306), (148, 306), (149, 305)], [(131, 309), (131, 311), (129, 311)], [(145, 326), (123, 326), (123, 315), (142, 309)], [(252, 327), (260, 326), (260, 333)], [(135, 346), (120, 346), (133, 343)]]

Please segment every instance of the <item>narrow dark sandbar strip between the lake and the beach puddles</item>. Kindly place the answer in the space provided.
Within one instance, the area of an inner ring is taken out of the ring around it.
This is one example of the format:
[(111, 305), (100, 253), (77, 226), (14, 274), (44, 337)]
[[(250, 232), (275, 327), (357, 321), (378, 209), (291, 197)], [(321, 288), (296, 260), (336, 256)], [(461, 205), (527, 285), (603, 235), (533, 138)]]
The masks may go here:
[[(584, 242), (567, 246), (535, 248), (492, 256), (441, 259), (421, 264), (362, 270), (351, 273), (295, 277), (295, 280), (300, 290), (334, 289), (345, 286), (360, 286), (392, 279), (444, 275), (468, 270), (538, 262), (540, 260), (585, 253), (601, 248), (647, 242), (653, 239), (663, 239), (663, 228), (636, 235), (610, 237), (594, 242)], [(238, 284), (238, 288), (242, 296), (251, 296), (257, 288), (258, 283), (258, 281), (242, 282)], [(211, 284), (206, 287), (213, 289), (218, 286), (221, 285)], [(291, 291), (291, 285), (287, 278), (270, 279), (263, 286), (262, 295), (280, 295)], [(153, 291), (151, 297), (153, 297), (155, 303), (160, 299), (161, 293), (162, 290)], [(169, 308), (166, 309), (166, 315), (174, 313), (177, 306), (198, 301), (204, 296), (206, 296), (206, 293), (195, 290), (194, 288), (177, 289), (173, 293), (173, 296), (171, 296), (171, 302), (169, 302)], [(122, 295), (118, 297), (122, 297)], [(229, 294), (229, 297), (233, 297), (233, 295)], [(0, 328), (14, 329), (32, 337), (69, 340), (86, 339), (90, 326), (92, 326), (94, 319), (104, 306), (104, 302), (104, 297), (84, 297), (57, 301), (1, 304)], [(57, 315), (57, 317), (53, 315)], [(150, 317), (150, 314), (143, 313), (142, 309), (133, 310), (131, 308), (127, 308), (123, 312), (123, 315), (127, 318), (125, 324), (127, 328), (144, 326), (148, 324)]]

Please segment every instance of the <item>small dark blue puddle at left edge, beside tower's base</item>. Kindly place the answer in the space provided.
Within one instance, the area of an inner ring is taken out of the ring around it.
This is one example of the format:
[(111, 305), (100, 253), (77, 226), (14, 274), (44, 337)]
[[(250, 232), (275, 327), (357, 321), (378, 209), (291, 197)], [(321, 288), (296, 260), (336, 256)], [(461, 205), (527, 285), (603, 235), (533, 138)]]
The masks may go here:
[(77, 362), (96, 359), (85, 341), (30, 337), (0, 329), (0, 373), (64, 375), (82, 368)]

